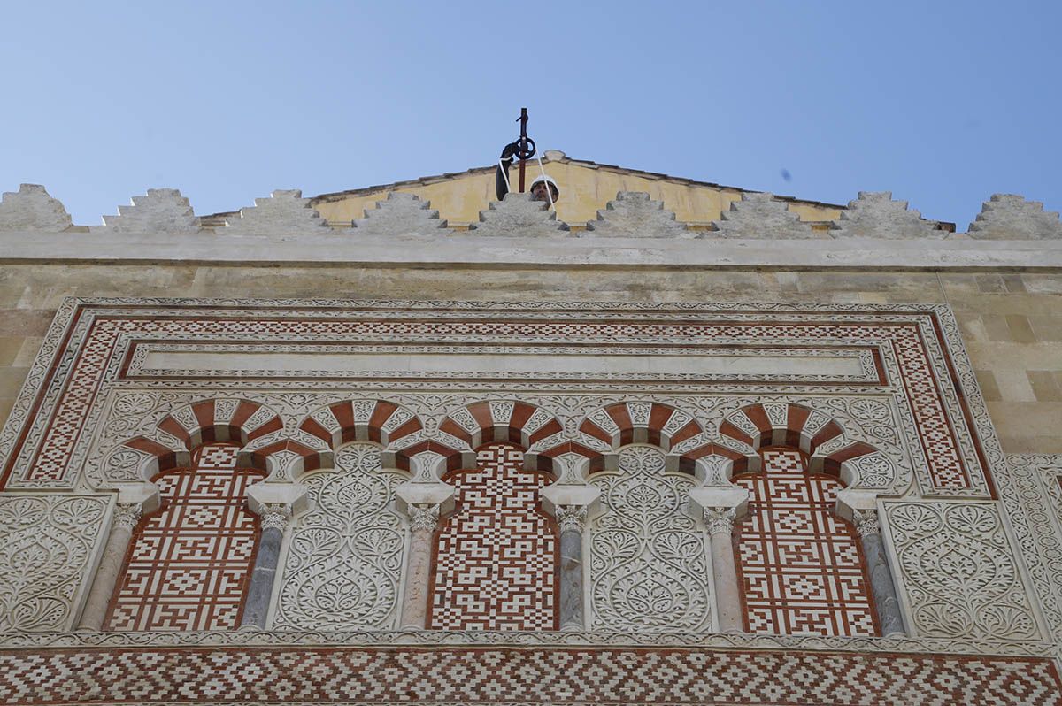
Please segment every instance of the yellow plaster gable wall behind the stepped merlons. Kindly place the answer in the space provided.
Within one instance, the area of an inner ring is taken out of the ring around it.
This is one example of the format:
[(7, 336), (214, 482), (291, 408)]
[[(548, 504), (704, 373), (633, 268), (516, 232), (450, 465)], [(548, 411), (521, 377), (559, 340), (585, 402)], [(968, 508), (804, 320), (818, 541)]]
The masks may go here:
[[(719, 220), (732, 201), (740, 201), (737, 189), (687, 184), (678, 179), (646, 176), (607, 167), (593, 167), (563, 159), (546, 161), (546, 173), (561, 185), (561, 199), (556, 204), (558, 218), (566, 223), (583, 224), (597, 220), (597, 212), (616, 197), (619, 191), (647, 191), (651, 199), (663, 201), (664, 207), (674, 211), (675, 219), (693, 225), (706, 226)], [(539, 174), (538, 165), (528, 166), (527, 184)], [(518, 171), (510, 170), (513, 189), (516, 189)], [(435, 183), (411, 184), (396, 191), (416, 194), (431, 202), (439, 217), (451, 225), (463, 226), (479, 221), (479, 212), (495, 200), (494, 173), (461, 174)], [(319, 196), (312, 204), (331, 224), (348, 224), (363, 217), (365, 209), (376, 207), (376, 202), (387, 197), (386, 189), (369, 193), (332, 194)], [(811, 202), (790, 203), (789, 209), (804, 221), (834, 221), (839, 208), (828, 208)]]

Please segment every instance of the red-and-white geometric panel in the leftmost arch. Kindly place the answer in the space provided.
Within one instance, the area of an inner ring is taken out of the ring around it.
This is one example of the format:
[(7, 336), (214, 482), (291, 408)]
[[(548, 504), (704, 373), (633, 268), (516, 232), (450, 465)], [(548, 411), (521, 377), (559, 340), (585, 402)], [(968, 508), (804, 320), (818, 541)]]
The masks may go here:
[(237, 468), (238, 450), (202, 446), (191, 467), (154, 479), (162, 505), (133, 534), (104, 630), (238, 626), (258, 537), (246, 489), (264, 476)]

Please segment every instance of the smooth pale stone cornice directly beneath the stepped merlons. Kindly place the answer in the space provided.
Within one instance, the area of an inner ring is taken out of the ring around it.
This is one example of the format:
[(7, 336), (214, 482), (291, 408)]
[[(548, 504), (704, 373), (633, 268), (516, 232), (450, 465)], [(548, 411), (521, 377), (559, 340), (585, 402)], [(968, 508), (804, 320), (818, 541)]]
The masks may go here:
[[(1062, 270), (1062, 240), (696, 240), (215, 233), (0, 233), (0, 262), (363, 266)], [(705, 234), (710, 235), (710, 234)]]

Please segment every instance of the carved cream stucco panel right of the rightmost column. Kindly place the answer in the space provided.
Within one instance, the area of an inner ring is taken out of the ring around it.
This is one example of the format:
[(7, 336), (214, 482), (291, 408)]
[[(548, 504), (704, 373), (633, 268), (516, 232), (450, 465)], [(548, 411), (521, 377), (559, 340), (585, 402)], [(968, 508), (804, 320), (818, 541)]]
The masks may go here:
[(920, 636), (1040, 636), (995, 503), (895, 502), (885, 510)]

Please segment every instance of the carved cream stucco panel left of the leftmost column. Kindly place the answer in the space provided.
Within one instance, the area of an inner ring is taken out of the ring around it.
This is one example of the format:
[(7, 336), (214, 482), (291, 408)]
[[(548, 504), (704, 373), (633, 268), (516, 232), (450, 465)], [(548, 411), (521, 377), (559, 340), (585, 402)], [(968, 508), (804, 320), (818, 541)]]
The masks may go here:
[(69, 630), (92, 561), (106, 498), (0, 498), (0, 633)]

